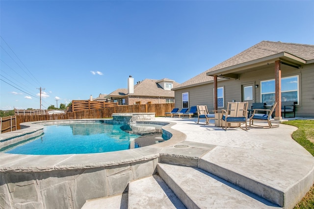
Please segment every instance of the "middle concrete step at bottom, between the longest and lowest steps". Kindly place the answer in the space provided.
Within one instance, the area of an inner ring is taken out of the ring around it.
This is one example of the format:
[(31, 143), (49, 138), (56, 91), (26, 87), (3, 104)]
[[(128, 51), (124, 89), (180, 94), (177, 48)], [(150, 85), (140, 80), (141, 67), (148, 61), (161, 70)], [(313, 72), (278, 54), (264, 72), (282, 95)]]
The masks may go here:
[(183, 203), (158, 176), (129, 184), (128, 209), (185, 209)]

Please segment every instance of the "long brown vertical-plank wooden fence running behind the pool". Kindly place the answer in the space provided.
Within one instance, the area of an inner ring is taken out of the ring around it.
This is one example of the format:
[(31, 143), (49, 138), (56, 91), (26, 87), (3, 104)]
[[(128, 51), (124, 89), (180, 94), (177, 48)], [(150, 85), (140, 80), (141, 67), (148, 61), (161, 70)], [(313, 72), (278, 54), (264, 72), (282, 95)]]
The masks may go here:
[(110, 118), (113, 113), (155, 113), (155, 116), (165, 116), (171, 112), (174, 103), (167, 104), (143, 104), (143, 105), (117, 105), (102, 109), (68, 112), (66, 114), (16, 116), (16, 129), (20, 129), (20, 123), (40, 120), (66, 120), (66, 119), (87, 119), (87, 118)]

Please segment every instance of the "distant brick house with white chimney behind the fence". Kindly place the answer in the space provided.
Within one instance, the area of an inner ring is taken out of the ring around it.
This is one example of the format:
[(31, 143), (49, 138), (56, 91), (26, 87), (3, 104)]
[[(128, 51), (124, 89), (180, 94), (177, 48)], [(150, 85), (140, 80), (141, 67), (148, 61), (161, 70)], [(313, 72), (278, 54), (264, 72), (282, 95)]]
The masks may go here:
[(134, 85), (134, 78), (130, 75), (128, 89), (117, 89), (105, 98), (120, 105), (174, 103), (175, 93), (172, 88), (178, 85), (179, 83), (168, 78), (145, 79)]

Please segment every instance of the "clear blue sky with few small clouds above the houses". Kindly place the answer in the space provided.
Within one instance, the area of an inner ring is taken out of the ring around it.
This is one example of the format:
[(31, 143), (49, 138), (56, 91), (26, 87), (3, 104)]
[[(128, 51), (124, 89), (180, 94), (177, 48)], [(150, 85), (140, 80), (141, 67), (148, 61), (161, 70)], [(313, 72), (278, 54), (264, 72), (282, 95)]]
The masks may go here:
[[(0, 1), (0, 110), (178, 83), (263, 41), (314, 45), (314, 1)], [(56, 101), (56, 99), (58, 101)]]

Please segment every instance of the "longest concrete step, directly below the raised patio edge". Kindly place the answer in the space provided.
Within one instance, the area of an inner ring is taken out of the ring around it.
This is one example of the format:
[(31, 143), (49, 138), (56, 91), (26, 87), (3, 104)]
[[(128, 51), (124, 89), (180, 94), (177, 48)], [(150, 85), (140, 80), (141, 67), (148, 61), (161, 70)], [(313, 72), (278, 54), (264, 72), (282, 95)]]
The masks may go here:
[(157, 170), (188, 209), (279, 208), (278, 205), (199, 168), (158, 163)]

